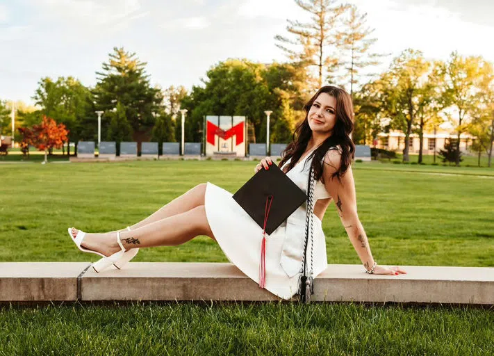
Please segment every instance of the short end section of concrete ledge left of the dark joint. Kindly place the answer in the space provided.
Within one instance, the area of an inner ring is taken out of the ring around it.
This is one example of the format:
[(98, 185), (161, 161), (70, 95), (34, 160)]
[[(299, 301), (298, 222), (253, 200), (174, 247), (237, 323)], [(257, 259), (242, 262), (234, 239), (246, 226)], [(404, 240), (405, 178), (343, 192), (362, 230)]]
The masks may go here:
[(77, 300), (89, 262), (0, 262), (0, 301)]

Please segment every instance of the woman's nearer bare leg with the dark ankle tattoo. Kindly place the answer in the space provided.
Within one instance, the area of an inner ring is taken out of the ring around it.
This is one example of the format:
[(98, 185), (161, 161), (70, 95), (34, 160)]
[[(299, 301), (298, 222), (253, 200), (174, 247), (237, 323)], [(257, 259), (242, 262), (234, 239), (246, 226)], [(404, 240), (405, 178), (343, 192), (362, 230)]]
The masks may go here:
[[(206, 218), (204, 205), (154, 221), (132, 231), (121, 232), (120, 241), (128, 250), (130, 248), (180, 245), (200, 235), (209, 236), (215, 240)], [(82, 246), (89, 250), (101, 252), (105, 256), (110, 256), (110, 254), (120, 250), (116, 233), (86, 234)]]

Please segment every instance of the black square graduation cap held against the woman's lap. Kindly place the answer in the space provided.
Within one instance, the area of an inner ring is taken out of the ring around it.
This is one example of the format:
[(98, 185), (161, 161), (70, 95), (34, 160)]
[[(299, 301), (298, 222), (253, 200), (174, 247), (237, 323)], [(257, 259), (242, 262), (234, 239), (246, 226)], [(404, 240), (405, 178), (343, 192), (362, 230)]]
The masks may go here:
[(267, 234), (274, 232), (307, 200), (306, 193), (276, 164), (273, 163), (269, 168), (269, 170), (264, 168), (259, 170), (233, 194), (233, 199), (260, 227), (264, 227), (266, 206), (270, 206), (265, 227)]

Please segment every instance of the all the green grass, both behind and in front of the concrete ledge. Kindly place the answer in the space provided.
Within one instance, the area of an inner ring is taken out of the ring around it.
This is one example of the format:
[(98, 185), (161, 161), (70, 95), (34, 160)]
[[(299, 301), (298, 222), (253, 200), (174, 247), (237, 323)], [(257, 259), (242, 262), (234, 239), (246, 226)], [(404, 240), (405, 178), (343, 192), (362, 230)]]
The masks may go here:
[[(119, 229), (204, 181), (234, 192), (255, 162), (0, 165), (0, 261), (96, 261), (67, 227)], [(379, 264), (494, 266), (492, 168), (356, 163), (359, 217)], [(329, 264), (360, 264), (334, 204)], [(210, 238), (135, 261), (227, 262)], [(492, 310), (400, 305), (65, 305), (0, 312), (0, 355), (491, 355)]]

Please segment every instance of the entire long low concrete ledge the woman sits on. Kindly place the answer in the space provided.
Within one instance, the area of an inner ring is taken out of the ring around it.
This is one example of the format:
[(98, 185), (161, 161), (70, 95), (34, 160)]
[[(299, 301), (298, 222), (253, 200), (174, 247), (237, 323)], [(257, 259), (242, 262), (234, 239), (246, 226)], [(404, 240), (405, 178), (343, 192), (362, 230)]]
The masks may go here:
[[(101, 273), (88, 266), (0, 263), (0, 301), (280, 300), (232, 264), (131, 262)], [(494, 305), (494, 268), (402, 267), (408, 274), (393, 276), (368, 275), (360, 265), (329, 265), (315, 280), (312, 300)]]

